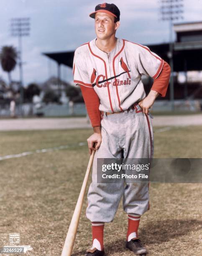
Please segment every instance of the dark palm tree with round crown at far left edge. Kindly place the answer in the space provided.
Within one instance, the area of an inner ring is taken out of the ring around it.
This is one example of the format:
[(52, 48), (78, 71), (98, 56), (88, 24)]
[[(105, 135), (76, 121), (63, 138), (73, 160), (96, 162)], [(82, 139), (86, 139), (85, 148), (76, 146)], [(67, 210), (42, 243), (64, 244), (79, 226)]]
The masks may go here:
[(10, 72), (15, 69), (18, 53), (13, 46), (3, 46), (0, 52), (0, 61), (3, 71), (8, 72), (9, 87), (11, 86)]

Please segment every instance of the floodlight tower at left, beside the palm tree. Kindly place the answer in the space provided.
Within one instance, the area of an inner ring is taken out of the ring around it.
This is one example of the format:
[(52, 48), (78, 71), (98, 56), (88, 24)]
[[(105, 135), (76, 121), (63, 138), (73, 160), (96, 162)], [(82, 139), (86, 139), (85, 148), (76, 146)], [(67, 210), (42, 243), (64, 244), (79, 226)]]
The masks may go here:
[(23, 61), (22, 61), (22, 37), (29, 36), (30, 18), (12, 18), (11, 19), (11, 36), (18, 37), (18, 65), (20, 71), (20, 114), (23, 115)]

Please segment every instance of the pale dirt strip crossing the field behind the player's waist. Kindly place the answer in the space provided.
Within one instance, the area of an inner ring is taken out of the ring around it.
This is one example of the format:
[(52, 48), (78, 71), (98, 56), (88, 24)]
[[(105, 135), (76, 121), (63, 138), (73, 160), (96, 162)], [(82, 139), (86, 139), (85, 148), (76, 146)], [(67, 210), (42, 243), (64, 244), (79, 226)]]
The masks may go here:
[[(202, 125), (202, 114), (154, 116), (154, 126)], [(90, 128), (87, 118), (26, 118), (0, 120), (0, 131)]]

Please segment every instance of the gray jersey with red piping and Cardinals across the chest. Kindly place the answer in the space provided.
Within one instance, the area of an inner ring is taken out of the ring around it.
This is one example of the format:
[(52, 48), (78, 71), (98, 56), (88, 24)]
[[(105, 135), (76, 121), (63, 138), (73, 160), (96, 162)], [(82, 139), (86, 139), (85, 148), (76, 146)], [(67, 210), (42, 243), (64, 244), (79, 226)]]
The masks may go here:
[(100, 98), (100, 111), (119, 112), (143, 100), (141, 75), (156, 79), (164, 60), (147, 46), (117, 38), (109, 54), (96, 45), (96, 38), (74, 53), (74, 83), (90, 87)]

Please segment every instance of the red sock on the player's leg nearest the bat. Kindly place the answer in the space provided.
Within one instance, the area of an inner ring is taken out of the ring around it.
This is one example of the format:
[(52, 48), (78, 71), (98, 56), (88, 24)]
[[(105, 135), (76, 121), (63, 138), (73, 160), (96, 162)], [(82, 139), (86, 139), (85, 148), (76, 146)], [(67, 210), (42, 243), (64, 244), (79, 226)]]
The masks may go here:
[(104, 223), (92, 222), (92, 247), (97, 248), (99, 251), (103, 251), (103, 237), (104, 237)]

